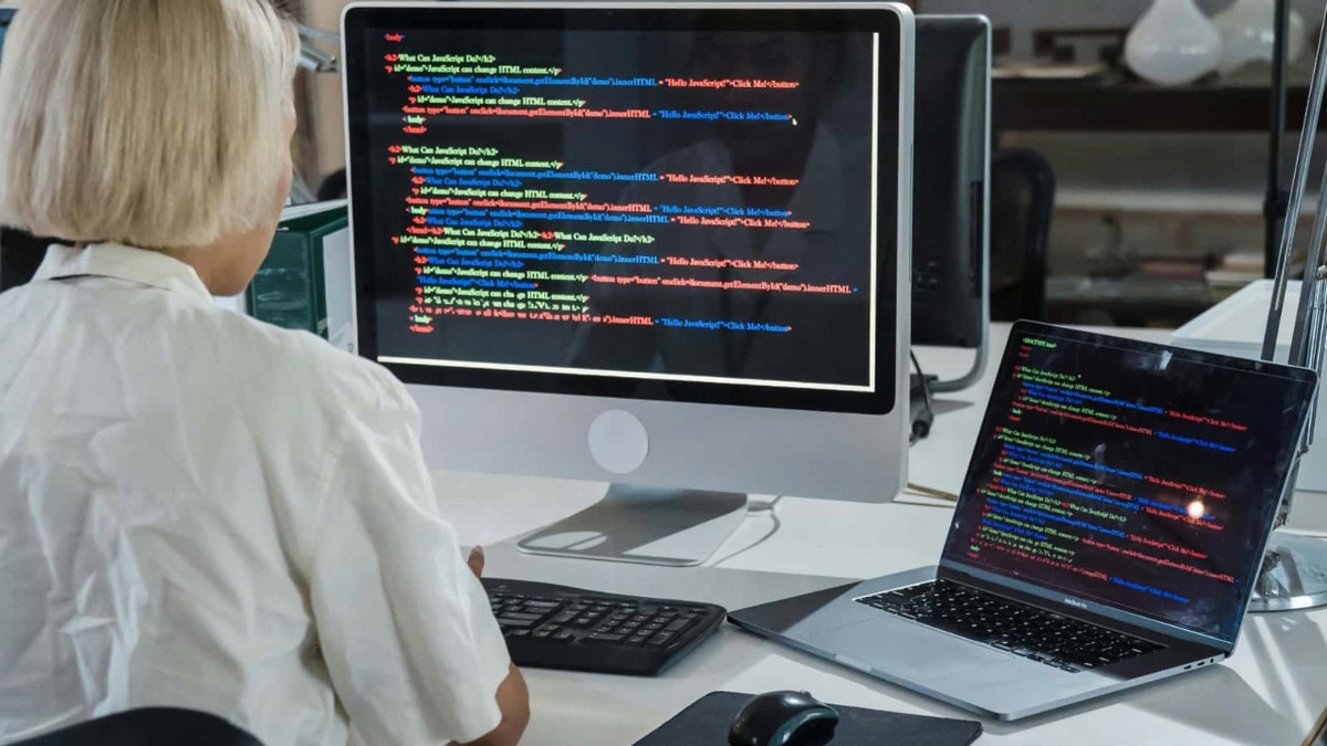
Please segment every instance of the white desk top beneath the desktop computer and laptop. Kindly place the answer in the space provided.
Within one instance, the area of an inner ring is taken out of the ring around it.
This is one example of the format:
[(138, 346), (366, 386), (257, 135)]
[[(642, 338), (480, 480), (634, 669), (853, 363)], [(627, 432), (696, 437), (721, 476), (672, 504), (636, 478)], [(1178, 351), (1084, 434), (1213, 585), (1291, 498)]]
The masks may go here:
[[(977, 386), (941, 398), (932, 437), (913, 449), (913, 482), (958, 491), (1007, 335), (1007, 325), (995, 327), (995, 360)], [(1128, 335), (1168, 338), (1158, 331)], [(958, 350), (922, 353), (928, 373), (951, 374), (966, 362)], [(934, 563), (951, 514), (910, 495), (892, 504), (786, 498), (778, 506), (782, 527), (768, 540), (733, 556), (772, 527), (768, 515), (752, 515), (715, 555), (718, 567), (711, 560), (678, 569), (516, 552), (512, 539), (593, 503), (602, 485), (456, 473), (435, 473), (434, 485), (462, 542), (486, 546), (490, 575), (729, 608)], [(1300, 495), (1294, 526), (1327, 530), (1327, 495)], [(731, 625), (657, 678), (536, 669), (525, 670), (525, 677), (532, 708), (523, 741), (528, 745), (633, 743), (717, 689), (805, 689), (845, 705), (973, 717)], [(1245, 623), (1237, 653), (1225, 665), (1027, 721), (986, 721), (981, 742), (1298, 745), (1324, 706), (1327, 609), (1262, 615)]]

